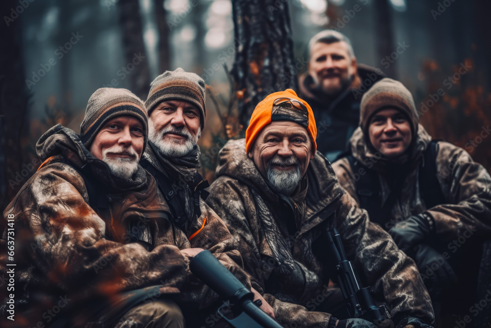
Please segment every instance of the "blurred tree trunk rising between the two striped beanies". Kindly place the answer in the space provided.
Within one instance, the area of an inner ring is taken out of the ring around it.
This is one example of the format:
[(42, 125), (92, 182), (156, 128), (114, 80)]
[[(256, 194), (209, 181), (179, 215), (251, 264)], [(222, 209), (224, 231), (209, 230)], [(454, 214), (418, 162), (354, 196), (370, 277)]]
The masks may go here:
[(138, 0), (119, 0), (119, 25), (123, 31), (126, 64), (123, 72), (130, 79), (131, 91), (145, 99), (150, 89), (150, 71), (146, 59)]

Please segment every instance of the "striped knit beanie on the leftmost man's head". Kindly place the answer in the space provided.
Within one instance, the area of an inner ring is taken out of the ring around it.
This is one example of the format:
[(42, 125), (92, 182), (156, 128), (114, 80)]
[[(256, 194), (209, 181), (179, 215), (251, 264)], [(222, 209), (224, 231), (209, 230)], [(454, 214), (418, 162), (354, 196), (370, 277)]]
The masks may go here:
[(100, 88), (90, 96), (80, 125), (80, 139), (83, 145), (89, 149), (104, 123), (123, 115), (133, 116), (141, 121), (145, 142), (143, 151), (145, 151), (148, 138), (148, 117), (145, 105), (140, 98), (127, 89)]

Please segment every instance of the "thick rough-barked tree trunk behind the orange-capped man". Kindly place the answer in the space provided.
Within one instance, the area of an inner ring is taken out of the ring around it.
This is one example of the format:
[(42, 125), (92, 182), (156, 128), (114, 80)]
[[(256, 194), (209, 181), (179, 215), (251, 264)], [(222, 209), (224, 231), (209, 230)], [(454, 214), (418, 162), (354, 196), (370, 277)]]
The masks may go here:
[(235, 79), (239, 121), (244, 126), (268, 94), (298, 89), (288, 3), (233, 0)]

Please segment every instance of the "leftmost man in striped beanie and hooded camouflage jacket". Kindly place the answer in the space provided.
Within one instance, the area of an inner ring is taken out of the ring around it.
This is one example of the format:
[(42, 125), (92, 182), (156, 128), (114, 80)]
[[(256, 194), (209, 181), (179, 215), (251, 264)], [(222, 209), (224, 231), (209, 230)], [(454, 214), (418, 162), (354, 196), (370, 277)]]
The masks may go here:
[(138, 165), (147, 134), (143, 102), (102, 88), (80, 136), (57, 124), (39, 139), (45, 161), (4, 211), (24, 251), (17, 321), (0, 319), (1, 327), (184, 327), (168, 296), (183, 291), (189, 260), (169, 238), (155, 179)]

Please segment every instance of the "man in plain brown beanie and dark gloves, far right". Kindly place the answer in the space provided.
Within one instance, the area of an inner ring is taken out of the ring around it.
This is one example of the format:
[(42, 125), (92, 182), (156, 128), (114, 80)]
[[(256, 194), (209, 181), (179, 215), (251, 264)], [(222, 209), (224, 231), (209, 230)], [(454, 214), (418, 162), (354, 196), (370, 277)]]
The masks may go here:
[(436, 327), (454, 327), (491, 286), (483, 276), (487, 287), (476, 297), (483, 240), (491, 237), (489, 173), (464, 149), (432, 141), (409, 90), (387, 78), (364, 94), (350, 144), (351, 154), (332, 165), (341, 186), (414, 259)]

